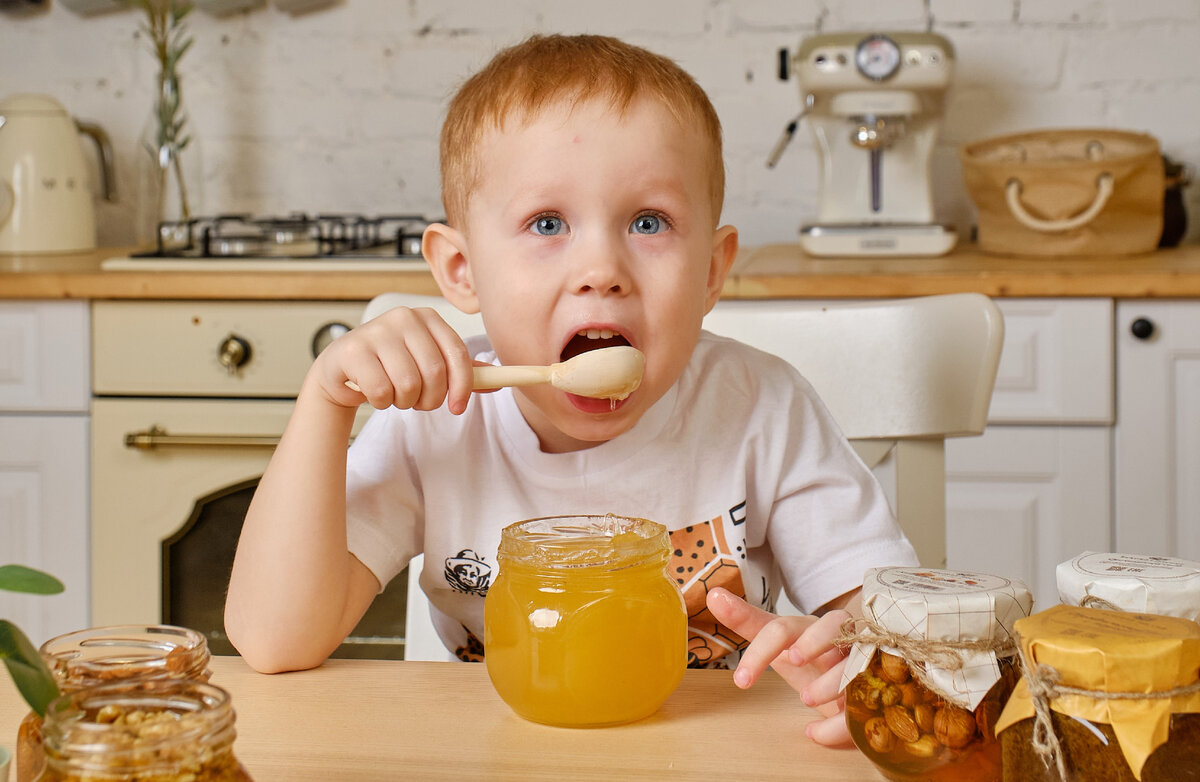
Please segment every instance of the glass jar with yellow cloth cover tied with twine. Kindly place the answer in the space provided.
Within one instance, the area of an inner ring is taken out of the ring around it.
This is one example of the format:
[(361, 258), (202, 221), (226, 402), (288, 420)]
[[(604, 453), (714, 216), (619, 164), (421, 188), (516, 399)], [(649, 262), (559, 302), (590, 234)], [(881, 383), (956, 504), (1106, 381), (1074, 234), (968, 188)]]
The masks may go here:
[[(1054, 754), (1037, 751), (1031, 672), (997, 722), (1004, 782), (1200, 780), (1200, 627), (1189, 619), (1054, 606), (1016, 622), (1033, 675), (1075, 692), (1046, 698)], [(1174, 697), (1153, 693), (1180, 690)], [(1146, 693), (1142, 694), (1134, 693)]]

